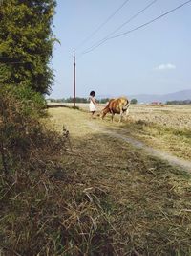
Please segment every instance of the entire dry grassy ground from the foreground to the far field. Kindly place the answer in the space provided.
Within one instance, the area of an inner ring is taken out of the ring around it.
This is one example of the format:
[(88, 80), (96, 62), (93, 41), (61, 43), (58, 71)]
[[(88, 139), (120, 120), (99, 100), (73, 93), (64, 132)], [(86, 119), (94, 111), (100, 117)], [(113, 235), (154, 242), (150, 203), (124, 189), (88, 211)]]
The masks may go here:
[(3, 151), (0, 255), (191, 255), (189, 110), (132, 105), (112, 123), (49, 108), (29, 148)]

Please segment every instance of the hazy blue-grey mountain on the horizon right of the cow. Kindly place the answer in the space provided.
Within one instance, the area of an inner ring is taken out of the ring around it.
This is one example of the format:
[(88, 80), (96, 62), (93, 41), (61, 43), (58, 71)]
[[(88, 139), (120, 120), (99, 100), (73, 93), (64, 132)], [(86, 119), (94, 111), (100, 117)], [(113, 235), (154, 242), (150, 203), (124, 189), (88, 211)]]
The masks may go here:
[(129, 95), (130, 99), (137, 99), (138, 103), (151, 103), (151, 102), (161, 102), (165, 103), (166, 101), (184, 101), (191, 100), (191, 89), (182, 90), (174, 93), (168, 94), (136, 94)]

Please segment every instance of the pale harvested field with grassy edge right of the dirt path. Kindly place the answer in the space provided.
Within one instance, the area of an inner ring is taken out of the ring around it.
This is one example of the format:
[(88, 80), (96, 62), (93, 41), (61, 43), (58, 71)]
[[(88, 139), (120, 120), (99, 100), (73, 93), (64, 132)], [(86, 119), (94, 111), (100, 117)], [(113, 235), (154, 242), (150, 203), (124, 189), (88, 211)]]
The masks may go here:
[[(87, 104), (76, 105), (88, 111)], [(103, 106), (100, 105), (98, 111)], [(106, 120), (109, 119), (108, 116)], [(118, 124), (109, 127), (118, 128)], [(147, 145), (155, 146), (182, 159), (191, 159), (190, 105), (131, 105), (129, 118), (120, 127), (124, 128), (123, 133), (131, 134)]]

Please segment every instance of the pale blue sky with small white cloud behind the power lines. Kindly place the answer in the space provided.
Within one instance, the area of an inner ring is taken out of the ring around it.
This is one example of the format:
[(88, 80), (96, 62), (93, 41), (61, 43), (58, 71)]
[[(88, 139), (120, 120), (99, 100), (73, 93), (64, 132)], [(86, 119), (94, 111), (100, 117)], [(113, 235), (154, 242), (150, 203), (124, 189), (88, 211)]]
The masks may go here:
[(60, 44), (53, 48), (55, 81), (50, 98), (73, 97), (74, 51), (77, 97), (88, 97), (91, 90), (97, 97), (114, 97), (191, 89), (191, 2), (87, 52), (108, 35), (131, 31), (184, 2), (57, 0), (53, 34)]

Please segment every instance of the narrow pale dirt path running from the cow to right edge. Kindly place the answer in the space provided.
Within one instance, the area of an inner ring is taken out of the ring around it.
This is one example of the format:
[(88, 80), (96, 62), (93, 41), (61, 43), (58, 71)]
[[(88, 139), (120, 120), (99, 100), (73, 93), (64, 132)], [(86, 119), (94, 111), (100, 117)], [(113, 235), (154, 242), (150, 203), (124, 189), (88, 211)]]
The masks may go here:
[[(183, 160), (183, 159), (180, 159), (179, 157), (174, 156), (166, 151), (161, 151), (161, 150), (157, 150), (152, 147), (149, 147), (133, 137), (120, 134), (118, 132), (118, 129), (117, 129), (117, 131), (108, 130), (108, 129), (104, 128), (103, 126), (101, 126), (101, 127), (100, 127), (100, 125), (97, 126), (96, 123), (94, 123), (94, 122), (88, 122), (88, 126), (96, 131), (109, 134), (112, 137), (115, 137), (115, 138), (118, 138), (125, 142), (128, 142), (132, 146), (136, 147), (137, 149), (146, 151), (149, 155), (157, 156), (162, 160), (168, 161), (171, 165), (178, 166), (178, 167), (182, 168), (184, 171), (191, 173), (191, 161)], [(121, 128), (121, 131), (122, 131), (122, 128)]]

